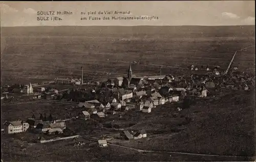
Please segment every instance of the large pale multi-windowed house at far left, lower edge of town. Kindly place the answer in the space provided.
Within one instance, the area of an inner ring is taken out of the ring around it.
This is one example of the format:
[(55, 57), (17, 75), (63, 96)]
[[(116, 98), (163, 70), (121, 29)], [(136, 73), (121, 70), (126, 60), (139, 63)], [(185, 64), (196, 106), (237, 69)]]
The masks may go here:
[(5, 132), (7, 132), (8, 134), (14, 134), (26, 131), (29, 128), (29, 123), (26, 123), (22, 120), (11, 122), (6, 121), (4, 123), (4, 126)]

